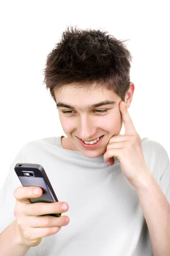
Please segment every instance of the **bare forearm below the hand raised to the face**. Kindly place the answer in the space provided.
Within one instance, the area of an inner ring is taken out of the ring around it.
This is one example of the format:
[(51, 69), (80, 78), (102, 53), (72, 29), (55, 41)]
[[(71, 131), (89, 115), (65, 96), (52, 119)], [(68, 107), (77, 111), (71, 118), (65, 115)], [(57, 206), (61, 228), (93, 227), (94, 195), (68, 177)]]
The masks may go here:
[(170, 204), (153, 175), (136, 188), (147, 222), (153, 256), (170, 256)]

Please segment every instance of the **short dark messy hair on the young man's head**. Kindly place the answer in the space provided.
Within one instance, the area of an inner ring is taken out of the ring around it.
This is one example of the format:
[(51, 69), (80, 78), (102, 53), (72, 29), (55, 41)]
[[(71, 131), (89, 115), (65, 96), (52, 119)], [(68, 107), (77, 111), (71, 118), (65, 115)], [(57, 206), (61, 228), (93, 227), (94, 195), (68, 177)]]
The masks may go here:
[(129, 90), (132, 55), (125, 41), (106, 35), (99, 29), (75, 29), (67, 26), (62, 39), (47, 55), (44, 69), (46, 89), (56, 102), (54, 89), (68, 84), (75, 87), (105, 87), (121, 100)]

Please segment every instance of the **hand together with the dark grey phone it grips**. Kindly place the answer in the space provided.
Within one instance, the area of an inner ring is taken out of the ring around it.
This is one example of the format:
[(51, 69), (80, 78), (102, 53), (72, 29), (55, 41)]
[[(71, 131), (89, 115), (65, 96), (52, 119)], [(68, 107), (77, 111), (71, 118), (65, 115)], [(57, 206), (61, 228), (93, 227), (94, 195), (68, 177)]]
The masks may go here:
[[(64, 202), (58, 201), (40, 164), (17, 163), (14, 170), (23, 185), (14, 191), (18, 241), (30, 247), (37, 246), (42, 237), (57, 233), (69, 223), (68, 216), (61, 216), (68, 209), (62, 209)], [(39, 189), (38, 195), (34, 195), (34, 189)]]

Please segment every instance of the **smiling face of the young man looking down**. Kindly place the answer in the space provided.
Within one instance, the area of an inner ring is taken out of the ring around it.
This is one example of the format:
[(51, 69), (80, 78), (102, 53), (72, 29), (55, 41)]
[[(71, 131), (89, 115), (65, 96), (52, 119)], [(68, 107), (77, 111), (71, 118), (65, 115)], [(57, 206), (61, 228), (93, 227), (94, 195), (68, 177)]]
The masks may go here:
[(55, 90), (55, 98), (62, 129), (68, 137), (63, 138), (63, 148), (78, 150), (90, 158), (105, 154), (111, 137), (122, 129), (121, 98), (108, 89), (92, 87), (87, 91), (71, 85)]

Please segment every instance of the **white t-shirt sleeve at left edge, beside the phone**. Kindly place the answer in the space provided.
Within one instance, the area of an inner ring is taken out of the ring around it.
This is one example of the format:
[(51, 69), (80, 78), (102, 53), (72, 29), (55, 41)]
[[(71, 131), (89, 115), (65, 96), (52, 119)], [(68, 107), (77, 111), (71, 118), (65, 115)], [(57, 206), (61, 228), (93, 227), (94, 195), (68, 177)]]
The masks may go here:
[(23, 163), (23, 148), (18, 152), (14, 161), (9, 166), (7, 177), (0, 189), (0, 233), (16, 220), (14, 215), (16, 203), (14, 190), (17, 187), (22, 186), (14, 170), (17, 163)]

